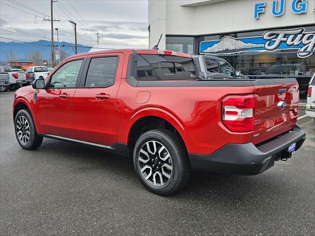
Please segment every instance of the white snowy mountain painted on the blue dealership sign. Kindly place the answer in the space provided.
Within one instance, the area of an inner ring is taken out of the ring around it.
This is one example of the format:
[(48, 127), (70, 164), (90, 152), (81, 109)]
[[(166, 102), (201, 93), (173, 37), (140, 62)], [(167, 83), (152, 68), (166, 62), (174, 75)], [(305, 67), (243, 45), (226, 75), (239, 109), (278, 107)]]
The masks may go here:
[(264, 44), (244, 43), (241, 40), (237, 40), (231, 36), (225, 36), (220, 42), (203, 50), (203, 53), (218, 53), (218, 52), (233, 52), (250, 48), (263, 48)]

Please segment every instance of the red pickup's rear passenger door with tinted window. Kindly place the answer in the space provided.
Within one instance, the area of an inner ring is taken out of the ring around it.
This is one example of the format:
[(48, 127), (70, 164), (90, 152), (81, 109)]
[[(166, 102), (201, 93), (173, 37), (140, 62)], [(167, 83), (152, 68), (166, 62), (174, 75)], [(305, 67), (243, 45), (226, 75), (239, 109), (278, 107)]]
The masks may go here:
[(113, 145), (117, 142), (116, 97), (124, 54), (90, 56), (73, 99), (73, 125), (78, 140)]

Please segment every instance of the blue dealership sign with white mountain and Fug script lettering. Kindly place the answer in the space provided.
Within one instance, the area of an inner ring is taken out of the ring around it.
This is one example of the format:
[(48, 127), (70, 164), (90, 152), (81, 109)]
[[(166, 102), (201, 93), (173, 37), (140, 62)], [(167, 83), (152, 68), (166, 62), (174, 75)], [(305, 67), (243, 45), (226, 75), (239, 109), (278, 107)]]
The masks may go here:
[(200, 54), (212, 55), (288, 49), (296, 49), (299, 58), (309, 57), (315, 52), (315, 32), (305, 32), (304, 28), (269, 30), (257, 37), (224, 36), (221, 40), (200, 42)]

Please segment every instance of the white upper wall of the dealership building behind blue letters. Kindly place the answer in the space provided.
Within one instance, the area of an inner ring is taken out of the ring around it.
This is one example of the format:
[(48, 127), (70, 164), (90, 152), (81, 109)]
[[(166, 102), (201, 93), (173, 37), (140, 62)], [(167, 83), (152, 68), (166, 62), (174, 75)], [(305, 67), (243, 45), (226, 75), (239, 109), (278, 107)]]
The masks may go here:
[[(149, 0), (150, 47), (157, 43), (161, 33), (159, 48), (165, 49), (165, 34), (216, 34), (315, 24), (315, 0), (308, 0), (307, 13), (300, 15), (291, 10), (293, 0), (285, 0), (284, 15), (279, 17), (272, 15), (272, 1)], [(256, 20), (254, 5), (260, 2), (267, 6)]]

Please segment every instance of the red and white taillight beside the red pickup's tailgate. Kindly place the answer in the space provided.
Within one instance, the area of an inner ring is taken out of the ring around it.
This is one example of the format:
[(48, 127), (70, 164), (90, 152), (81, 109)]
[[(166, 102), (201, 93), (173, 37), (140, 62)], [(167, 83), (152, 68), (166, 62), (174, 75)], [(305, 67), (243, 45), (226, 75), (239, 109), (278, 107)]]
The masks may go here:
[(231, 131), (254, 128), (254, 95), (229, 95), (222, 100), (222, 123)]

